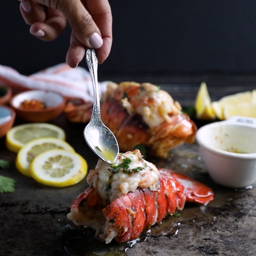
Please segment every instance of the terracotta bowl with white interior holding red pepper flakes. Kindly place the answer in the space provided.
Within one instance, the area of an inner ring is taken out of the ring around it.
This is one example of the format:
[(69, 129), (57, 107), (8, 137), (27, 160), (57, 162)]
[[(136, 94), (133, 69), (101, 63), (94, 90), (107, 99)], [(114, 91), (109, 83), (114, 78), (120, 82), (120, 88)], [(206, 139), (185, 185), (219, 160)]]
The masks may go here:
[[(37, 100), (45, 104), (44, 109), (24, 109), (22, 102), (26, 100)], [(9, 104), (22, 119), (30, 122), (48, 122), (55, 119), (63, 111), (66, 99), (55, 92), (32, 90), (20, 92), (14, 95)]]

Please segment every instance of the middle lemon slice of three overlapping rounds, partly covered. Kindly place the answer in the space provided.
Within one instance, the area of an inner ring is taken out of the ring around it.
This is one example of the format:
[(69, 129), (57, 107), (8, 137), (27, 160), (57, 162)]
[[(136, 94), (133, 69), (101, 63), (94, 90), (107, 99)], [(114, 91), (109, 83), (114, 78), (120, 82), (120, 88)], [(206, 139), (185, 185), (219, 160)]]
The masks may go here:
[(19, 150), (18, 155), (16, 157), (16, 167), (23, 174), (28, 177), (31, 177), (29, 172), (29, 165), (33, 161), (33, 159), (51, 149), (65, 149), (71, 152), (75, 152), (73, 147), (70, 146), (67, 142), (56, 139), (53, 137), (48, 138), (40, 138), (27, 142), (21, 150)]

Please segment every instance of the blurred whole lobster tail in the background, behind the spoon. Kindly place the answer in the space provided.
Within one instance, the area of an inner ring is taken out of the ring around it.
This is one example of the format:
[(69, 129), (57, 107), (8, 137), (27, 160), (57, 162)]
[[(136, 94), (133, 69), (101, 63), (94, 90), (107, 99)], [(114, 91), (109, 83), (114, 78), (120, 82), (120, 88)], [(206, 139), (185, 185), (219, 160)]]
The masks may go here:
[[(88, 121), (91, 107), (69, 103), (65, 112), (71, 121)], [(151, 83), (110, 83), (101, 99), (101, 119), (122, 152), (145, 145), (151, 155), (167, 157), (171, 148), (195, 139), (194, 122), (169, 93)]]

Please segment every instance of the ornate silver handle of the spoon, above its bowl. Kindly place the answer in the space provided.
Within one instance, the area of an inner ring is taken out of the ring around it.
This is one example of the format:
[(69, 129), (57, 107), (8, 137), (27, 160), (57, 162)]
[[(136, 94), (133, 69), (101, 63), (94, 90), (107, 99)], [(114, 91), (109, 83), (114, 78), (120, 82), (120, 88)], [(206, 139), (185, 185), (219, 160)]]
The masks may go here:
[(100, 116), (100, 96), (98, 91), (98, 58), (94, 49), (87, 48), (86, 50), (86, 62), (92, 77), (93, 86), (93, 110), (91, 119), (101, 120)]

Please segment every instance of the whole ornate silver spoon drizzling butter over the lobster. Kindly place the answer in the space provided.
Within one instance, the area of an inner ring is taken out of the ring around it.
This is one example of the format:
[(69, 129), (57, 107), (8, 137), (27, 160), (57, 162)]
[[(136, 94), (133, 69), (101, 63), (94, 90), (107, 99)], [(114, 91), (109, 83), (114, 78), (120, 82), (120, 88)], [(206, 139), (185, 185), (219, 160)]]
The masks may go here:
[(86, 50), (86, 62), (93, 85), (93, 109), (91, 119), (83, 130), (85, 141), (91, 150), (108, 164), (113, 164), (119, 155), (119, 145), (115, 135), (101, 121), (100, 97), (98, 92), (98, 59), (93, 49)]

